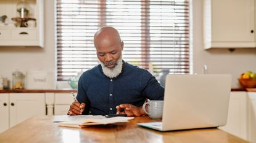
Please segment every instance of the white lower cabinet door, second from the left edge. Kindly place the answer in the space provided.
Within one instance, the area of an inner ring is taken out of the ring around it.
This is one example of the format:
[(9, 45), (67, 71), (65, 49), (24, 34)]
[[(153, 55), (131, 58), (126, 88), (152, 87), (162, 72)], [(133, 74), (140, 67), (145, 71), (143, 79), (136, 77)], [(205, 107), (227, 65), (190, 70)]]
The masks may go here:
[(46, 115), (44, 93), (10, 93), (10, 127), (35, 115)]

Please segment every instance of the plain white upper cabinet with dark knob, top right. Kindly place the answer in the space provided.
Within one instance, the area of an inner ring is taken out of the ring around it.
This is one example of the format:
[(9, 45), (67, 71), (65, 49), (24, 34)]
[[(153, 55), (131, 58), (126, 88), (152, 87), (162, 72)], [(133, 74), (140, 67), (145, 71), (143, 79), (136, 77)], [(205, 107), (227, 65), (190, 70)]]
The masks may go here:
[(204, 47), (255, 47), (255, 0), (204, 0)]

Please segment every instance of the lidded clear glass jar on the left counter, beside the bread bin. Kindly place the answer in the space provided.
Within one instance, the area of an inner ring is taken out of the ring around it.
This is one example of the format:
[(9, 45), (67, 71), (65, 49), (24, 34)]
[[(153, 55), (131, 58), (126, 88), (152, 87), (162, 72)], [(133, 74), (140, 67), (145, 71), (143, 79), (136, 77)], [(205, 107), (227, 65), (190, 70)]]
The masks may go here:
[(13, 89), (24, 89), (25, 75), (19, 70), (12, 72), (12, 88)]

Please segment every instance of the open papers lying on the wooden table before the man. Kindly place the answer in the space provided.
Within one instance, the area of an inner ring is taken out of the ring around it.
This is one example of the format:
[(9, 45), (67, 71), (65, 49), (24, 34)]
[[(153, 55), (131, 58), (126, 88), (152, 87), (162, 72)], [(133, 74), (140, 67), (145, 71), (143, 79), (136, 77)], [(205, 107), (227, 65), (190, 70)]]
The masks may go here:
[(86, 118), (81, 120), (75, 120), (71, 122), (60, 122), (59, 126), (67, 126), (74, 128), (84, 128), (91, 125), (107, 125), (110, 123), (128, 122), (134, 117), (113, 117), (113, 118)]

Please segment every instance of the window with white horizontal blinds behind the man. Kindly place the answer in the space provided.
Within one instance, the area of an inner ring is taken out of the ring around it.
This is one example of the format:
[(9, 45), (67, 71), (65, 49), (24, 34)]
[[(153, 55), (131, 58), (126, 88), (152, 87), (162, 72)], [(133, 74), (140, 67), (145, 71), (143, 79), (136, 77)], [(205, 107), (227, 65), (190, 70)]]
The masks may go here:
[(57, 78), (98, 64), (93, 36), (114, 26), (123, 60), (141, 68), (189, 73), (189, 0), (57, 0)]

